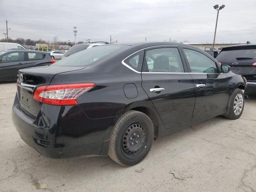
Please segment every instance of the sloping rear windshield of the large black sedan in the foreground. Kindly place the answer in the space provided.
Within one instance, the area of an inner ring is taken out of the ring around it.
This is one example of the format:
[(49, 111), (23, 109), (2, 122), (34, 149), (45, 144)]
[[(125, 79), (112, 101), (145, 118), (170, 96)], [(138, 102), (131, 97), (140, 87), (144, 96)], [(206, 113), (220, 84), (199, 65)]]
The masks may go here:
[(75, 54), (72, 54), (58, 62), (54, 65), (60, 66), (86, 66), (98, 59), (105, 59), (121, 48), (126, 47), (125, 45), (104, 45), (96, 46), (91, 49), (86, 49)]

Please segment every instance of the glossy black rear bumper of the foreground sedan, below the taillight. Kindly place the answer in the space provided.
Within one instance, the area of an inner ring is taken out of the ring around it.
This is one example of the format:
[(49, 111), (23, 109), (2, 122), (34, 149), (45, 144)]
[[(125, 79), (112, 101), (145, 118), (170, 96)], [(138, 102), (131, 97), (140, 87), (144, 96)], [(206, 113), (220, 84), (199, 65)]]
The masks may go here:
[(43, 104), (36, 118), (22, 109), (16, 96), (12, 121), (29, 146), (49, 158), (107, 156), (114, 118), (90, 120), (80, 106)]

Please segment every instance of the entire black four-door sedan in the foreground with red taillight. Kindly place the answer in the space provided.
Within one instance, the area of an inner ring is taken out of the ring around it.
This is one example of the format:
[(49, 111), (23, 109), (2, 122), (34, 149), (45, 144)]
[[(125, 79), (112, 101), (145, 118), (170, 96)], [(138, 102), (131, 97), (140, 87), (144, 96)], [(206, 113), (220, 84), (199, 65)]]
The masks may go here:
[(142, 161), (154, 138), (209, 118), (237, 119), (245, 80), (206, 52), (172, 42), (108, 44), (22, 69), (12, 119), (50, 158)]

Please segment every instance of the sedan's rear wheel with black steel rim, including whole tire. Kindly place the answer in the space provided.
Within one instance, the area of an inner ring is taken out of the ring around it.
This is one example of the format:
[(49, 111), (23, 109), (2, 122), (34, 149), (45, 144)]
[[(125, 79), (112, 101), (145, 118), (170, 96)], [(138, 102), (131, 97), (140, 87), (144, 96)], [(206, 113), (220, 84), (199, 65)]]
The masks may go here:
[(123, 114), (110, 137), (109, 157), (122, 166), (141, 162), (150, 151), (154, 127), (150, 118), (139, 111)]

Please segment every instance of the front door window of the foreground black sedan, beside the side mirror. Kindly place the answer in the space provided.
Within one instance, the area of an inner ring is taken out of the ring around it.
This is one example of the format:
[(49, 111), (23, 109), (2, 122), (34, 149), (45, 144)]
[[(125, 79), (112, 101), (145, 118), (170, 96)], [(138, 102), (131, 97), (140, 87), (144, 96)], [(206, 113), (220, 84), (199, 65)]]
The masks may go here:
[(184, 49), (192, 73), (218, 73), (216, 64), (206, 55), (191, 49)]

